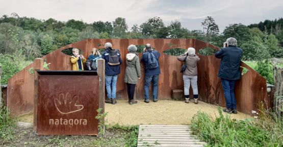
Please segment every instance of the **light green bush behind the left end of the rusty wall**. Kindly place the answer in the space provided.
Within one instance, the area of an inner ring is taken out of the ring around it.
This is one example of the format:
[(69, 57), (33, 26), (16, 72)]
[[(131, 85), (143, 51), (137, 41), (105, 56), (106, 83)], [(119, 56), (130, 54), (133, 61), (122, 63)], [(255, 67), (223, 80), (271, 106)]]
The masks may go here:
[[(18, 53), (18, 54), (17, 54)], [(0, 55), (0, 64), (2, 66), (1, 83), (7, 84), (10, 79), (18, 71), (22, 70), (32, 63), (32, 61), (25, 61), (24, 56), (17, 52), (13, 55)]]

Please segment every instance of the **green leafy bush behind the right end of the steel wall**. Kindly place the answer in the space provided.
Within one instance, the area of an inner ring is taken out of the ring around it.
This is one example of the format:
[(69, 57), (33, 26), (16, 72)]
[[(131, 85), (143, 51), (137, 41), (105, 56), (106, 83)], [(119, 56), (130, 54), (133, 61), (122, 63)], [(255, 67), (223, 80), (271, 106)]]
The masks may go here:
[(255, 70), (267, 80), (267, 83), (274, 84), (272, 65), (268, 60), (259, 61), (255, 66)]

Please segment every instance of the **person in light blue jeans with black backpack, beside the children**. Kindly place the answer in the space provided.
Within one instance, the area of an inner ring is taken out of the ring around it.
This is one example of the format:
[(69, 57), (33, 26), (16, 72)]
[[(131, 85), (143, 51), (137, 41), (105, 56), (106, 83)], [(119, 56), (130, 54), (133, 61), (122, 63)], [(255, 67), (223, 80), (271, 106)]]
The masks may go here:
[[(105, 43), (104, 47), (106, 49), (102, 54), (102, 59), (105, 60), (105, 85), (107, 90), (107, 99), (105, 100), (105, 103), (116, 104), (116, 83), (118, 75), (120, 74), (122, 59), (119, 50), (113, 50), (110, 42)], [(110, 55), (111, 53), (114, 53), (114, 51), (115, 56), (111, 57)], [(118, 63), (112, 63), (112, 61), (117, 61)]]

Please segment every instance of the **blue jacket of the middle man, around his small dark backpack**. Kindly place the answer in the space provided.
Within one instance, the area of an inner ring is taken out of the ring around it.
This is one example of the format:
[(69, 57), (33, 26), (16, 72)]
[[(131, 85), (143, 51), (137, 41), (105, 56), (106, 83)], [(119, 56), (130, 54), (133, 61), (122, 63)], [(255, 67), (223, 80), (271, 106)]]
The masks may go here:
[[(148, 52), (152, 52), (153, 55), (155, 55), (155, 57), (157, 58), (158, 65), (159, 65), (157, 68), (154, 68), (154, 69), (148, 68)], [(144, 62), (144, 65), (145, 65), (145, 72), (144, 72), (145, 76), (160, 75), (159, 57), (160, 57), (160, 54), (154, 50), (142, 53), (141, 62)]]

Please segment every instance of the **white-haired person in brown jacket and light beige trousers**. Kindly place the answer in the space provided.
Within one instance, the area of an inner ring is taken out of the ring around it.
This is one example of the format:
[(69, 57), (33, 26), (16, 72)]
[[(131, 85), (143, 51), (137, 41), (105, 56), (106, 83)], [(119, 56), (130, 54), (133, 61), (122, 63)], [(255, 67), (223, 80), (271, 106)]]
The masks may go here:
[(190, 100), (190, 85), (192, 85), (193, 94), (194, 94), (194, 103), (198, 103), (198, 88), (197, 88), (197, 62), (200, 60), (199, 57), (195, 54), (195, 48), (189, 47), (188, 51), (177, 57), (179, 61), (185, 62), (186, 69), (183, 71), (183, 80), (184, 80), (184, 94), (185, 94), (185, 103), (189, 103)]

